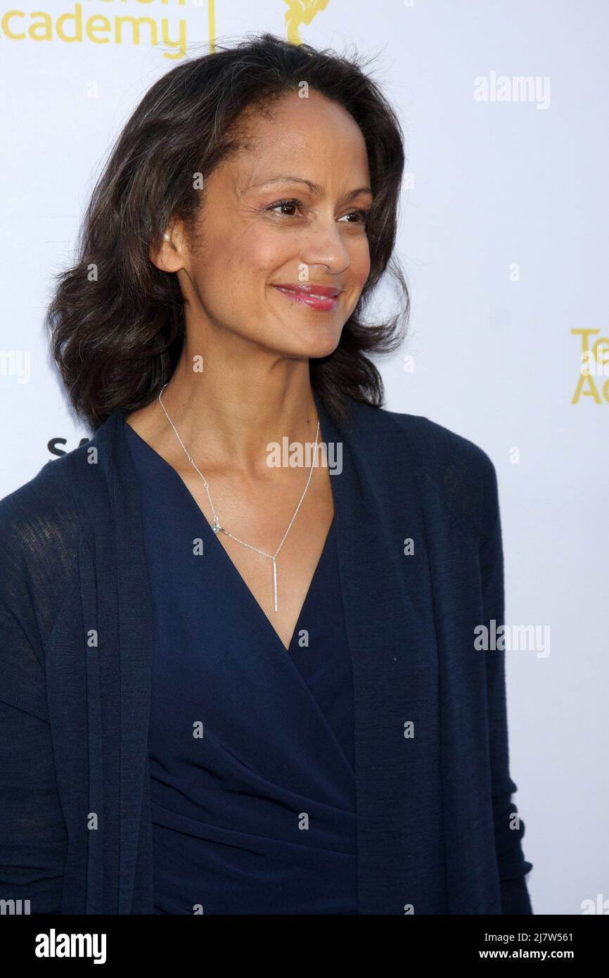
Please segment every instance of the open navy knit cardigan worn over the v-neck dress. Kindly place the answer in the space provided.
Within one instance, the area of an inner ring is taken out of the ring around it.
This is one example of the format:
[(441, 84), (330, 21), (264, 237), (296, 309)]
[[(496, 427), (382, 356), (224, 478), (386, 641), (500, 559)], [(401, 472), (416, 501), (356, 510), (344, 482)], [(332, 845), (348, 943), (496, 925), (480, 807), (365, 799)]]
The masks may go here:
[[(351, 401), (348, 425), (314, 396), (347, 449), (330, 484), (359, 911), (532, 913), (504, 652), (474, 647), (504, 620), (495, 467), (426, 418)], [(152, 912), (152, 600), (127, 413), (0, 501), (0, 899), (32, 913)]]

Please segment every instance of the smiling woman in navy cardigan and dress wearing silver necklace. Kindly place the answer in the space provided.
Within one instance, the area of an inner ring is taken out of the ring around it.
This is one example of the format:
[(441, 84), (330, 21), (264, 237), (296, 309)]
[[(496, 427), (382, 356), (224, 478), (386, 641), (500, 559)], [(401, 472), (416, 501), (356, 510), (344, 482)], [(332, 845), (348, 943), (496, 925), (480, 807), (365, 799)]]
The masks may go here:
[(94, 436), (0, 505), (2, 898), (532, 912), (503, 655), (474, 645), (495, 469), (384, 411), (365, 355), (408, 319), (395, 266), (404, 309), (362, 315), (403, 167), (355, 61), (269, 34), (127, 122), (49, 309)]

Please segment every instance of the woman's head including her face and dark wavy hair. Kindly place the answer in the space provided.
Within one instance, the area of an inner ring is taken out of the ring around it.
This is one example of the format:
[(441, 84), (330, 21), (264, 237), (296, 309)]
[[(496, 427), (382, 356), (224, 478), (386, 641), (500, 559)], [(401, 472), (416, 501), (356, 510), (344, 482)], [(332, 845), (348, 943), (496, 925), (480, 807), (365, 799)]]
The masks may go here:
[[(235, 335), (271, 330), (285, 354), (310, 357), (307, 378), (310, 366), (313, 388), (345, 420), (349, 397), (382, 403), (365, 354), (404, 338), (394, 111), (355, 59), (272, 35), (219, 48), (163, 75), (126, 123), (89, 203), (80, 260), (49, 306), (70, 400), (93, 429), (118, 406), (144, 408), (181, 359), (192, 364), (201, 337), (189, 313), (198, 319), (207, 303), (210, 328), (216, 312)], [(365, 322), (386, 272), (401, 308)], [(293, 301), (275, 285), (335, 289), (324, 309), (333, 315), (291, 316), (287, 328)]]

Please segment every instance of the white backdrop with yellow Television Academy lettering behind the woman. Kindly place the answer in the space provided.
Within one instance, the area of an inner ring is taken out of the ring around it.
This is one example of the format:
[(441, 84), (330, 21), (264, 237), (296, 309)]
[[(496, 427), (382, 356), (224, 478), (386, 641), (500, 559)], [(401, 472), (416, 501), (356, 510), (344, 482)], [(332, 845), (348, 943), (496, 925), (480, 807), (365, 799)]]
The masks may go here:
[[(506, 621), (549, 626), (543, 652), (506, 653), (534, 911), (609, 913), (609, 5), (21, 0), (21, 13), (10, 9), (0, 13), (0, 497), (54, 457), (51, 442), (70, 451), (89, 436), (42, 321), (109, 147), (152, 82), (214, 36), (231, 43), (263, 29), (377, 55), (372, 73), (407, 135), (398, 252), (413, 298), (403, 350), (376, 360), (386, 407), (452, 428), (497, 467)], [(125, 17), (143, 19), (139, 37)], [(390, 304), (381, 290), (379, 310)], [(585, 340), (596, 342), (601, 376), (581, 379)]]

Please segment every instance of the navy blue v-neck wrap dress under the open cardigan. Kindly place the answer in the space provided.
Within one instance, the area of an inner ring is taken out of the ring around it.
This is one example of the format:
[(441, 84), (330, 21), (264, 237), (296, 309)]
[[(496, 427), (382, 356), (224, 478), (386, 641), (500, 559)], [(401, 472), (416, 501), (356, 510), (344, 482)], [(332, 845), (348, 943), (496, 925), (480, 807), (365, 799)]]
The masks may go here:
[(357, 913), (354, 689), (334, 520), (285, 649), (178, 473), (125, 429), (152, 588), (154, 911)]

